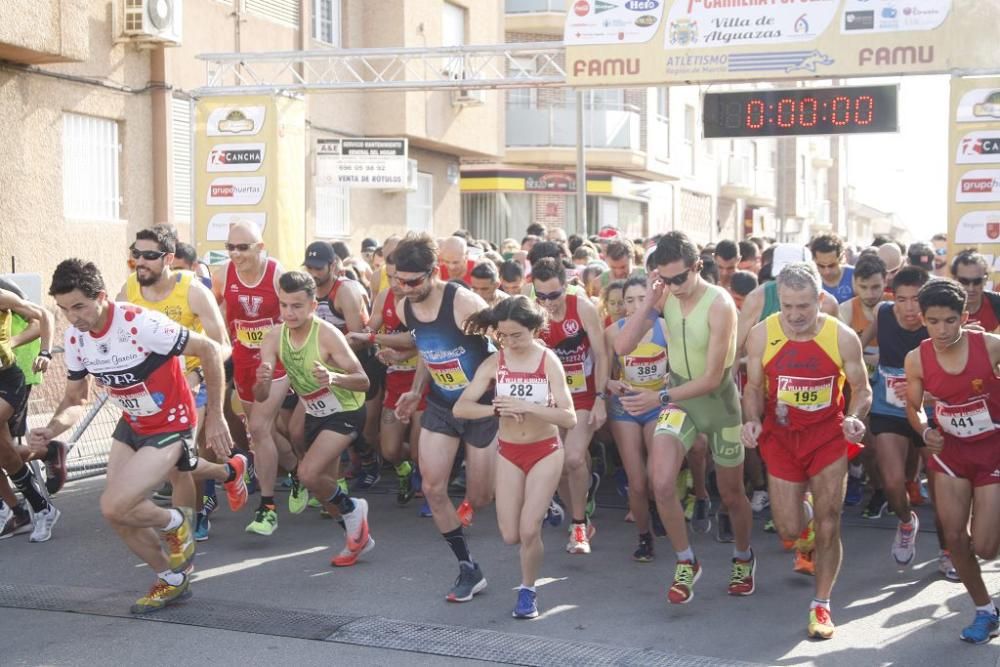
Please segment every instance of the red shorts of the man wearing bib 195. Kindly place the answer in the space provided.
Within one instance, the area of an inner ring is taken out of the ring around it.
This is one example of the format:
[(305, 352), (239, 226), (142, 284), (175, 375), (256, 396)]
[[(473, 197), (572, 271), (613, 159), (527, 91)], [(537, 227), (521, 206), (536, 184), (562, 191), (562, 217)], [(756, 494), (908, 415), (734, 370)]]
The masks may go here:
[(765, 429), (760, 438), (760, 456), (769, 475), (787, 482), (807, 482), (846, 456), (848, 445), (842, 435), (817, 443), (809, 431)]

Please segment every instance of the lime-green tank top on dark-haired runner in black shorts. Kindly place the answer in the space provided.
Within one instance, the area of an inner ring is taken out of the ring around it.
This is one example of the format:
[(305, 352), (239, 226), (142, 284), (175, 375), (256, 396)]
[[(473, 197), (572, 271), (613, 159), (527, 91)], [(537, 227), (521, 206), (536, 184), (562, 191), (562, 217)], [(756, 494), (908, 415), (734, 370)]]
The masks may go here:
[(344, 372), (342, 369), (334, 368), (323, 361), (323, 355), (319, 349), (319, 327), (319, 320), (313, 317), (309, 337), (306, 338), (302, 347), (296, 348), (289, 338), (288, 327), (284, 324), (281, 325), (279, 358), (288, 373), (288, 381), (295, 393), (302, 399), (308, 415), (328, 417), (337, 412), (359, 410), (365, 403), (363, 391), (351, 391), (333, 385), (323, 386), (313, 377), (312, 369), (317, 361), (335, 373)]

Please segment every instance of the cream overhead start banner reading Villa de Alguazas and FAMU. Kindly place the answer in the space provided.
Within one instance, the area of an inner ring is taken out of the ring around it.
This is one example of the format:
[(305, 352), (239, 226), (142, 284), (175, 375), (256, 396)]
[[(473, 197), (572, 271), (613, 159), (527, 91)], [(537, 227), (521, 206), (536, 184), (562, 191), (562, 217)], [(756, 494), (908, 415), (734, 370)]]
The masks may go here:
[(989, 73), (1000, 64), (993, 0), (567, 0), (566, 8), (571, 86)]

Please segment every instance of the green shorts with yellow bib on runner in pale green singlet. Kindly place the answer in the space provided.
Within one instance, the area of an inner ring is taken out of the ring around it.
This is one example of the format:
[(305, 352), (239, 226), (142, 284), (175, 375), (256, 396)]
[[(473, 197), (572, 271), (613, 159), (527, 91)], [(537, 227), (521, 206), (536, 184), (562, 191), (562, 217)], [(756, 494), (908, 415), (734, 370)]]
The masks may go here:
[[(674, 386), (684, 381), (671, 374)], [(694, 445), (695, 437), (703, 433), (708, 437), (715, 465), (733, 468), (743, 463), (742, 427), (739, 392), (727, 372), (722, 385), (712, 393), (667, 406), (656, 421), (656, 435), (672, 435), (681, 441), (687, 453)]]

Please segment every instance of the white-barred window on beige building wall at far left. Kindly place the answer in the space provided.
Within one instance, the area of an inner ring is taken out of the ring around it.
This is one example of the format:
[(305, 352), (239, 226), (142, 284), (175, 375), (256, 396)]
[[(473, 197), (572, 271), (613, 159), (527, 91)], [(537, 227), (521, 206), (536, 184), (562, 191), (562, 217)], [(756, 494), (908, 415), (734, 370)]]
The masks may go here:
[(63, 215), (119, 219), (118, 123), (63, 114)]

